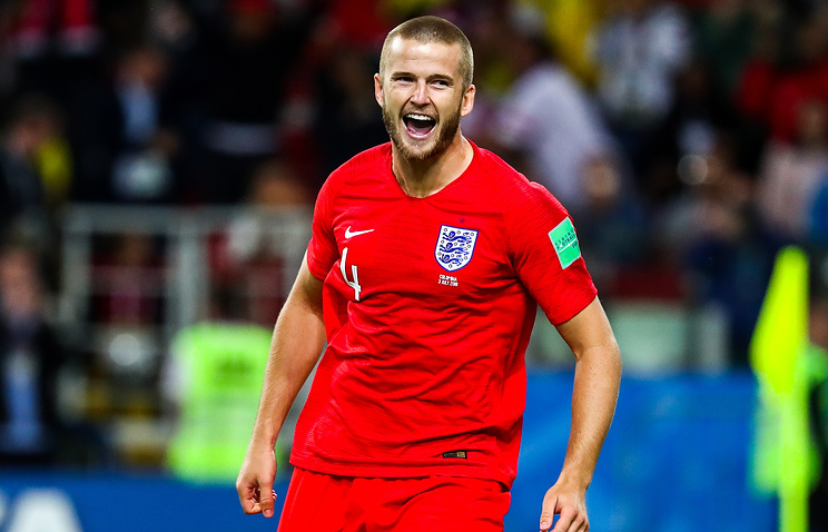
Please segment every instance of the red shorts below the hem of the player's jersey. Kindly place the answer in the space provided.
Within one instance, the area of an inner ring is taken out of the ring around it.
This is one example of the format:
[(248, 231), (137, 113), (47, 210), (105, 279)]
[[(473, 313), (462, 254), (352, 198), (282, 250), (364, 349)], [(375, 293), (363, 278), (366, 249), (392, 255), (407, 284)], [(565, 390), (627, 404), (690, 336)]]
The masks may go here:
[(296, 467), (278, 532), (503, 532), (511, 499), (485, 479), (364, 479)]

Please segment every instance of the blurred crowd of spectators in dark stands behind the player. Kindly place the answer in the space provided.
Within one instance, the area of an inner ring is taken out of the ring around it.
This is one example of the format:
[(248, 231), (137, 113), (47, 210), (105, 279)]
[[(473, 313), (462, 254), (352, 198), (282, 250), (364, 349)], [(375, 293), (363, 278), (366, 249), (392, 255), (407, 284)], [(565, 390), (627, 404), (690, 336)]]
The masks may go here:
[[(39, 303), (61, 288), (67, 207), (312, 205), (329, 171), (387, 140), (373, 93), (379, 47), (424, 13), (472, 40), (464, 134), (562, 200), (602, 297), (714, 305), (730, 364), (747, 363), (776, 252), (828, 244), (828, 2), (6, 0), (9, 441), (46, 453), (60, 363), (49, 357), (71, 363)], [(132, 235), (107, 250), (152, 266), (151, 248)], [(224, 253), (253, 250), (243, 239)], [(135, 277), (111, 283), (121, 298), (98, 312), (159, 313), (129, 297)]]

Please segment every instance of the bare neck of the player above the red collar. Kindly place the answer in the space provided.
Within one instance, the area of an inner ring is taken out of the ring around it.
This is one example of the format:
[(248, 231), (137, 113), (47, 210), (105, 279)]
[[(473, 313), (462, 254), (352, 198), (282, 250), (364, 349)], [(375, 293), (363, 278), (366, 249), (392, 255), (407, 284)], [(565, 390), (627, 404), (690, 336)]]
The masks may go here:
[(407, 159), (392, 145), (392, 170), (405, 194), (425, 198), (459, 178), (473, 157), (472, 145), (457, 134), (445, 151), (424, 160)]

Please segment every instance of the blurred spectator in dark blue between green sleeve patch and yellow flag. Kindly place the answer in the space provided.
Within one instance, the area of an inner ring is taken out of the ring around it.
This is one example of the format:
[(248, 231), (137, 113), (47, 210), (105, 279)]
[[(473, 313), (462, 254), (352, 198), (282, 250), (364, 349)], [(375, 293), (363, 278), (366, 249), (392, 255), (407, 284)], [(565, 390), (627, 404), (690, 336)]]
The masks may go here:
[(773, 253), (756, 220), (753, 179), (738, 168), (735, 145), (720, 132), (708, 155), (683, 159), (680, 175), (687, 186), (657, 226), (670, 262), (688, 275), (689, 303), (723, 311), (730, 362), (741, 366)]

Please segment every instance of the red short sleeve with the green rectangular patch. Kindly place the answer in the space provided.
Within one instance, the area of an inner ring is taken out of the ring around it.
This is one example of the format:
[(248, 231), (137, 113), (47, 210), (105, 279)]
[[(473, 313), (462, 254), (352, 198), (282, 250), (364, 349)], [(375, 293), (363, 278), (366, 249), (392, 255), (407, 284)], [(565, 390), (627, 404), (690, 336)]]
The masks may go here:
[(575, 316), (598, 293), (572, 218), (545, 188), (530, 184), (504, 213), (512, 265), (553, 325)]

